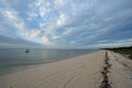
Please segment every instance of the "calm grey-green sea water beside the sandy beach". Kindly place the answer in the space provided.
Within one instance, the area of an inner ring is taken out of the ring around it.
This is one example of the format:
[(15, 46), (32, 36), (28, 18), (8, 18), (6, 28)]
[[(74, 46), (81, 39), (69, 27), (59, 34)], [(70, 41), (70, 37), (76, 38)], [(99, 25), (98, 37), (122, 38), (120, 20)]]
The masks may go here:
[(25, 50), (4, 48), (0, 50), (0, 75), (14, 73), (38, 64), (68, 59), (96, 52), (97, 50)]

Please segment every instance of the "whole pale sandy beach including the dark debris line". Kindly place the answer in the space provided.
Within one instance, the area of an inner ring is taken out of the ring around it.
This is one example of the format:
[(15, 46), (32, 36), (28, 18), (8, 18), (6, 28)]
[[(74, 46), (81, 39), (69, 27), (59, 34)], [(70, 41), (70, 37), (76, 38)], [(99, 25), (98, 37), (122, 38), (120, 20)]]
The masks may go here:
[(0, 76), (0, 88), (132, 88), (132, 61), (99, 51)]

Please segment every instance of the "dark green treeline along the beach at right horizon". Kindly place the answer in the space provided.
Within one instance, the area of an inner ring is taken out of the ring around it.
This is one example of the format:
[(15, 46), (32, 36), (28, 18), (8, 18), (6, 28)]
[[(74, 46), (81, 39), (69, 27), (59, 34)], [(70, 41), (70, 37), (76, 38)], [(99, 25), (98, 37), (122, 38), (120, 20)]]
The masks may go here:
[(103, 50), (109, 50), (116, 53), (120, 53), (123, 54), (125, 56), (128, 56), (129, 58), (132, 59), (132, 46), (128, 46), (128, 47), (113, 47), (113, 48), (103, 48)]

